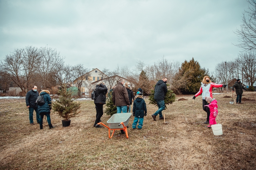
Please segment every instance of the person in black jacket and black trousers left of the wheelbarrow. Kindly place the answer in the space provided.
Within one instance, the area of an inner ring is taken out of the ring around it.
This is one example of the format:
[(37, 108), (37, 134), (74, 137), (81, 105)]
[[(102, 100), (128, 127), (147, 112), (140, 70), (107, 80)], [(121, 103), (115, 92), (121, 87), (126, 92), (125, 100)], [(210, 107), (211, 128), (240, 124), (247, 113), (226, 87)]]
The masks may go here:
[(108, 88), (104, 84), (104, 82), (99, 81), (95, 88), (96, 99), (94, 100), (94, 104), (96, 108), (96, 120), (93, 126), (96, 128), (103, 127), (97, 123), (99, 123), (101, 120), (101, 116), (103, 115), (103, 105), (106, 104), (106, 94), (108, 92)]

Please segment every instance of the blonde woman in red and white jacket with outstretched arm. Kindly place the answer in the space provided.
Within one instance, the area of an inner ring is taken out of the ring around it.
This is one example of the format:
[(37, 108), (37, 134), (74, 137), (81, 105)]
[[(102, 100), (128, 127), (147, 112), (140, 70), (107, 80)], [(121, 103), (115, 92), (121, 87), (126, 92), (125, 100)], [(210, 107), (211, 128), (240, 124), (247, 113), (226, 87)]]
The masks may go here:
[(226, 86), (227, 85), (223, 85), (223, 84), (215, 84), (210, 81), (209, 76), (204, 76), (203, 81), (201, 82), (201, 87), (200, 87), (199, 91), (193, 97), (193, 99), (195, 99), (197, 96), (202, 94), (203, 110), (207, 113), (206, 122), (204, 122), (204, 124), (209, 124), (209, 117), (210, 117), (209, 107), (204, 107), (204, 105), (207, 105), (205, 97), (212, 97), (212, 88), (214, 88), (214, 87), (220, 88), (220, 87), (226, 87)]

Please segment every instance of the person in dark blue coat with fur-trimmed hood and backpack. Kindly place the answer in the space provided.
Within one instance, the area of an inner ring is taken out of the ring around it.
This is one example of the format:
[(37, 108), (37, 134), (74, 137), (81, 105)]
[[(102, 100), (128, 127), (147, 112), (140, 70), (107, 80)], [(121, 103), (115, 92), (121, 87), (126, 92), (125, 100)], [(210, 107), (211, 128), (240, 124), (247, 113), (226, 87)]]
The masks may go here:
[(40, 119), (39, 119), (39, 124), (40, 124), (40, 129), (43, 129), (43, 126), (42, 126), (42, 120), (44, 118), (44, 115), (46, 115), (47, 117), (47, 122), (48, 122), (48, 125), (49, 125), (49, 128), (55, 128), (52, 126), (52, 123), (51, 123), (51, 118), (50, 118), (50, 113), (51, 113), (51, 110), (52, 110), (52, 99), (50, 97), (50, 91), (49, 90), (42, 90), (40, 91), (39, 93), (39, 96), (43, 96), (43, 101), (42, 99), (38, 99), (38, 113), (40, 115)]

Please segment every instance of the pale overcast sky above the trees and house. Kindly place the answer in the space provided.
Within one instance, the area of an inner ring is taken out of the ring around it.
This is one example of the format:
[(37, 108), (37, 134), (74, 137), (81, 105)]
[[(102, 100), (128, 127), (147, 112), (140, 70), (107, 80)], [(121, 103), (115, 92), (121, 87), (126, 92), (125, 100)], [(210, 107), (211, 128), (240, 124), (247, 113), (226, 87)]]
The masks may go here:
[(47, 45), (90, 69), (164, 56), (214, 71), (240, 51), (232, 43), (244, 9), (246, 0), (0, 0), (0, 59)]

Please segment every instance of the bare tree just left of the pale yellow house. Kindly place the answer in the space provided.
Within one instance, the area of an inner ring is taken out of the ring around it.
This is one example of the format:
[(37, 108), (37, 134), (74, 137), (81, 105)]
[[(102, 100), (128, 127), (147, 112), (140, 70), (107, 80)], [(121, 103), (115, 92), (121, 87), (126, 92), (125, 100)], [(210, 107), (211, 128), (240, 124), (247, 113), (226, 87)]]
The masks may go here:
[(72, 67), (72, 70), (73, 70), (73, 77), (75, 78), (74, 82), (78, 88), (77, 95), (81, 96), (82, 84), (84, 80), (86, 80), (86, 77), (90, 76), (89, 69), (84, 68), (82, 64), (77, 64)]

